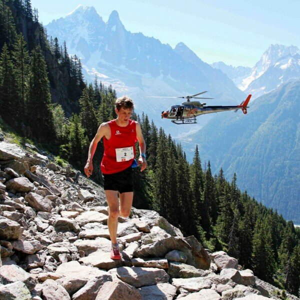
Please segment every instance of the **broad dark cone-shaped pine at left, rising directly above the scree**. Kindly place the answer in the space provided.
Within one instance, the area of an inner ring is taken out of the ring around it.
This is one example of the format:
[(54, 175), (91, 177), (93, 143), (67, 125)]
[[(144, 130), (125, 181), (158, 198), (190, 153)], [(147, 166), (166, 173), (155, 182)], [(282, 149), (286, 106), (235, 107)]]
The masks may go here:
[(29, 135), (38, 141), (49, 142), (55, 139), (49, 80), (46, 63), (39, 46), (32, 51), (31, 56), (26, 124)]

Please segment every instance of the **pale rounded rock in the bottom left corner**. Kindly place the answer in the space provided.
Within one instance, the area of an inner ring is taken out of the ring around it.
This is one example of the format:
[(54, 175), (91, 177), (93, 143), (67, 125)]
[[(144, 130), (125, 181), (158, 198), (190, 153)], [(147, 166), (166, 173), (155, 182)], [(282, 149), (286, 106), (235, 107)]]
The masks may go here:
[(1, 300), (31, 300), (31, 294), (26, 285), (21, 281), (0, 286)]

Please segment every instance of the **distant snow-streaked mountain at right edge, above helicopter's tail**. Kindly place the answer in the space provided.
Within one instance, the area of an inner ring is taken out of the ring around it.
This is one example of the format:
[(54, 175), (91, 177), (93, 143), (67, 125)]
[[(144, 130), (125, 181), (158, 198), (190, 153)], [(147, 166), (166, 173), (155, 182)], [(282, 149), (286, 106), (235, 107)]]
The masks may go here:
[(232, 67), (219, 61), (211, 64), (222, 70), (235, 85), (252, 99), (300, 78), (300, 50), (293, 45), (271, 44), (251, 68)]

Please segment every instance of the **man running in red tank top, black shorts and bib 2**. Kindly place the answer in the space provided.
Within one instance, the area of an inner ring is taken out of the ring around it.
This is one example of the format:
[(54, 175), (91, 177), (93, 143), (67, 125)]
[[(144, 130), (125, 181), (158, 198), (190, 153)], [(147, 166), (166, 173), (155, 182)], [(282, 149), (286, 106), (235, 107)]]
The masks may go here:
[[(116, 241), (117, 218), (127, 217), (130, 214), (133, 199), (133, 171), (135, 161), (135, 143), (139, 143), (140, 170), (147, 167), (146, 145), (143, 139), (140, 124), (130, 120), (133, 102), (127, 96), (115, 101), (117, 118), (102, 123), (92, 139), (84, 172), (87, 177), (92, 173), (92, 157), (97, 143), (103, 137), (104, 153), (101, 161), (101, 172), (104, 182), (104, 191), (108, 204), (108, 231), (111, 240), (110, 258), (121, 259)], [(118, 200), (119, 193), (119, 200)]]

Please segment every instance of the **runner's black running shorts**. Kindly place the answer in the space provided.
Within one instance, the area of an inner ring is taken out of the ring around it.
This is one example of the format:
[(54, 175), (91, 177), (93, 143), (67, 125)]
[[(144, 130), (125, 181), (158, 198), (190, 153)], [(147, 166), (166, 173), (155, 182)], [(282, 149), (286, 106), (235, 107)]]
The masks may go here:
[(113, 174), (102, 174), (104, 190), (117, 190), (119, 193), (133, 191), (133, 169), (131, 166)]

